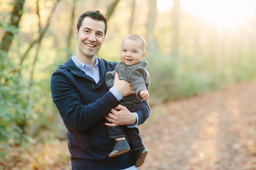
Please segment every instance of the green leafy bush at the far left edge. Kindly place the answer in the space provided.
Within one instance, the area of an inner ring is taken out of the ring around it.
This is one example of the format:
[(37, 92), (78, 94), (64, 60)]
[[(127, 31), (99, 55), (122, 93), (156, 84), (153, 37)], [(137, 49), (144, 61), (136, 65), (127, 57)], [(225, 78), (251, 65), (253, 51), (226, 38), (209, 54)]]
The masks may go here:
[(0, 138), (15, 145), (26, 138), (25, 127), (32, 113), (13, 62), (3, 51), (0, 60)]

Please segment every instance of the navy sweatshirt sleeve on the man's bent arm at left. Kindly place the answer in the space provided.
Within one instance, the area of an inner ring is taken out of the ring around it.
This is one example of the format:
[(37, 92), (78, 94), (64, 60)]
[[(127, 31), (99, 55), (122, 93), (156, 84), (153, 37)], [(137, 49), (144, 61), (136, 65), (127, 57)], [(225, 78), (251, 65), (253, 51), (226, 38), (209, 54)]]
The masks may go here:
[(72, 84), (75, 79), (67, 77), (61, 71), (53, 73), (51, 78), (53, 102), (65, 124), (68, 123), (81, 132), (87, 131), (88, 128), (102, 119), (118, 101), (108, 91), (95, 102), (84, 105), (79, 92)]

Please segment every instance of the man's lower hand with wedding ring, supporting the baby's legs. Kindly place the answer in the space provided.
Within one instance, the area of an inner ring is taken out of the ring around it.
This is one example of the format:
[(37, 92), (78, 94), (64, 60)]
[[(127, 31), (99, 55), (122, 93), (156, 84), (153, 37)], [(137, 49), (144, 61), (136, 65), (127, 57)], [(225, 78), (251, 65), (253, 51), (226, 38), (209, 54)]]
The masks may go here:
[[(119, 111), (117, 111), (119, 110)], [(137, 123), (136, 116), (131, 113), (125, 106), (118, 105), (115, 109), (110, 110), (111, 113), (106, 114), (104, 117), (106, 120), (112, 123), (105, 123), (106, 126), (117, 126), (117, 125), (126, 125), (126, 124), (135, 124)]]

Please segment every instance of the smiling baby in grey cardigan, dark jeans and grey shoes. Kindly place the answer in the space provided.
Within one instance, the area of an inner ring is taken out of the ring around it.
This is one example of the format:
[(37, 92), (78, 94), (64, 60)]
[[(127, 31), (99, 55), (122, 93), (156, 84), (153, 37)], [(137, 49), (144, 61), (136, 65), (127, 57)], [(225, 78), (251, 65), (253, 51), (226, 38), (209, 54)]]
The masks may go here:
[[(147, 100), (149, 97), (148, 85), (150, 85), (150, 75), (145, 69), (148, 64), (144, 59), (145, 56), (144, 38), (140, 34), (130, 34), (124, 38), (122, 43), (120, 51), (121, 62), (117, 64), (114, 71), (106, 73), (106, 85), (109, 88), (114, 84), (115, 72), (119, 74), (120, 80), (131, 83), (136, 94), (124, 97), (117, 105), (125, 106), (132, 113), (139, 109), (141, 100)], [(110, 139), (116, 141), (109, 157), (129, 152), (130, 146), (126, 140), (126, 132), (132, 144), (131, 148), (134, 154), (135, 165), (140, 167), (145, 161), (147, 150), (142, 144), (138, 128), (128, 128), (127, 126), (107, 126), (107, 128)]]

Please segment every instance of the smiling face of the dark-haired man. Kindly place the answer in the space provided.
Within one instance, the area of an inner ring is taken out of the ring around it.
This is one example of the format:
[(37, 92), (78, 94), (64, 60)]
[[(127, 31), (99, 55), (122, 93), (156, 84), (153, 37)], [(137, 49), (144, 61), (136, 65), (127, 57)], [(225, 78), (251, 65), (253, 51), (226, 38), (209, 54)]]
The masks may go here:
[(92, 58), (100, 50), (104, 41), (105, 23), (85, 17), (79, 30), (75, 28), (77, 38), (76, 55)]

